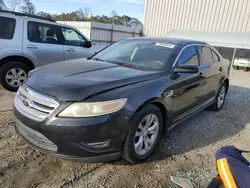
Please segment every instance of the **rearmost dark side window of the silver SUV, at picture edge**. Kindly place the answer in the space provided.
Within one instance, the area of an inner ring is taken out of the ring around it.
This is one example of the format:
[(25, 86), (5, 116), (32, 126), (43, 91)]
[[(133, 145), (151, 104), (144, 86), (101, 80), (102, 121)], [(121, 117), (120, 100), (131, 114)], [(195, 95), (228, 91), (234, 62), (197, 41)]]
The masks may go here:
[(16, 27), (16, 20), (0, 16), (0, 39), (12, 39)]

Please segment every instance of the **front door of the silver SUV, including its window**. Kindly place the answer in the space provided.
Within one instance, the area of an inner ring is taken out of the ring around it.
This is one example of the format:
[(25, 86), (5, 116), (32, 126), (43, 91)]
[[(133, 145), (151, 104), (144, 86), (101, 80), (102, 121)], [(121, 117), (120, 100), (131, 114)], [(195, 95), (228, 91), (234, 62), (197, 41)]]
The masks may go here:
[(62, 27), (62, 33), (65, 38), (65, 60), (86, 58), (95, 53), (92, 47), (83, 47), (87, 40), (74, 29)]

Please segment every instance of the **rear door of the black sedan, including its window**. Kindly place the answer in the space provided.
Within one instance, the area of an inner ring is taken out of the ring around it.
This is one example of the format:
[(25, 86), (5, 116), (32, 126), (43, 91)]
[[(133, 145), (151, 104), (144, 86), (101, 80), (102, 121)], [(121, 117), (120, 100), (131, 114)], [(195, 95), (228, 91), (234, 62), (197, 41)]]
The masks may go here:
[(200, 72), (205, 78), (204, 97), (206, 101), (216, 97), (220, 87), (222, 67), (219, 56), (208, 46), (198, 46), (200, 54)]

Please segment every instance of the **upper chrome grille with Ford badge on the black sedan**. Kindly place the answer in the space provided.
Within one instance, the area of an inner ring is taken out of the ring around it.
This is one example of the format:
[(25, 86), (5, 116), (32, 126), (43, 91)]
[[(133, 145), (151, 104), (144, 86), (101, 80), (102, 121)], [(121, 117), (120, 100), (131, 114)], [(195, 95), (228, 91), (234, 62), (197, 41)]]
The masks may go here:
[(59, 103), (24, 85), (17, 91), (14, 105), (24, 116), (35, 121), (43, 121), (59, 106)]

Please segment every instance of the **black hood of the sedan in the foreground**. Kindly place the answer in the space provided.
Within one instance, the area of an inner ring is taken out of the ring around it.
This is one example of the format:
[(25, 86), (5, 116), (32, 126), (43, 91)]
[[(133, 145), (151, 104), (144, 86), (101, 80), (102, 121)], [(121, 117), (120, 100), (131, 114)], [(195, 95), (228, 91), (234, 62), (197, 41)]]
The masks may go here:
[(31, 73), (26, 84), (60, 101), (82, 101), (100, 92), (159, 77), (159, 71), (77, 59), (38, 68)]

